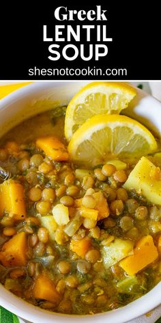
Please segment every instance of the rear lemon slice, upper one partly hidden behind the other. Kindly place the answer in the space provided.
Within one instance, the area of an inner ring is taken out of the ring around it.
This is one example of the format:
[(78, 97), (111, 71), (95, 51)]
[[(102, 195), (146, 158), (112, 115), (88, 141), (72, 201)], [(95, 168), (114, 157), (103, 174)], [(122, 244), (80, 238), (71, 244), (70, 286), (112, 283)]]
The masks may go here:
[(119, 114), (136, 95), (136, 89), (121, 82), (93, 82), (82, 88), (70, 101), (65, 115), (65, 137), (96, 114)]

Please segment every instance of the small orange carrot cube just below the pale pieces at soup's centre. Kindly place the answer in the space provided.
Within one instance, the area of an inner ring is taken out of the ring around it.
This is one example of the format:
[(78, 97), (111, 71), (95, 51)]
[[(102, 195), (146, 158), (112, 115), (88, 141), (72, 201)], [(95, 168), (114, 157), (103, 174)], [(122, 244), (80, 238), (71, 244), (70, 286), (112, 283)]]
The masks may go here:
[(81, 258), (85, 258), (85, 254), (90, 248), (91, 239), (89, 237), (84, 237), (82, 240), (72, 239), (70, 242), (70, 250)]

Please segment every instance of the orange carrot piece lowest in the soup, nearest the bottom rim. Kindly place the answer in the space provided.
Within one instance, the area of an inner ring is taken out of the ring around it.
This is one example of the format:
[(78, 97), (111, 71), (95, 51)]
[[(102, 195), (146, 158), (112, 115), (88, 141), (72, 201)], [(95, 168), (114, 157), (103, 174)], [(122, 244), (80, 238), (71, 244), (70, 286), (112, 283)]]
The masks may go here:
[(48, 300), (57, 305), (60, 302), (60, 295), (55, 289), (53, 281), (44, 274), (40, 274), (33, 285), (32, 295), (40, 300)]

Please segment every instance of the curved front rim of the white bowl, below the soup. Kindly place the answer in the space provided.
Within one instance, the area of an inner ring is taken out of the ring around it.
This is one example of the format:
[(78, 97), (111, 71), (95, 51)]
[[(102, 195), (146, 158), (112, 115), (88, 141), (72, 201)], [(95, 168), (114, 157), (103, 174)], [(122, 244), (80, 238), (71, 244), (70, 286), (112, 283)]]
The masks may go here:
[[(0, 290), (1, 289), (4, 292), (3, 294), (5, 294), (5, 298), (0, 296), (1, 306), (5, 307), (5, 309), (8, 309), (8, 311), (11, 311), (23, 320), (28, 320), (29, 322), (33, 323), (38, 323), (38, 321), (39, 323), (75, 323), (75, 320), (79, 323), (81, 323), (82, 320), (85, 323), (106, 323), (106, 320), (108, 320), (108, 323), (126, 323), (145, 313), (148, 313), (160, 305), (161, 302), (160, 282), (158, 285), (153, 287), (150, 292), (141, 298), (130, 302), (124, 307), (119, 307), (118, 309), (113, 309), (112, 311), (97, 313), (94, 315), (67, 315), (40, 309), (30, 304), (26, 300), (18, 298), (18, 296), (7, 291), (5, 287), (0, 284)], [(154, 292), (156, 297), (153, 297)], [(10, 302), (8, 302), (8, 298), (10, 298)]]

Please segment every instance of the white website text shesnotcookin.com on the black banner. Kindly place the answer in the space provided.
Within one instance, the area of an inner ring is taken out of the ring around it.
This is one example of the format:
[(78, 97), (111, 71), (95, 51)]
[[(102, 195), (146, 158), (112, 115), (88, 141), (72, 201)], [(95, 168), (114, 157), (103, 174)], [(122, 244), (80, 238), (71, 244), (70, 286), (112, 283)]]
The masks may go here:
[(87, 68), (38, 68), (34, 66), (28, 70), (29, 76), (127, 76), (126, 68), (96, 68), (96, 66)]

